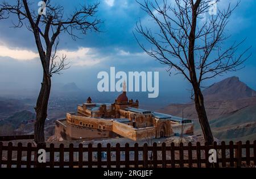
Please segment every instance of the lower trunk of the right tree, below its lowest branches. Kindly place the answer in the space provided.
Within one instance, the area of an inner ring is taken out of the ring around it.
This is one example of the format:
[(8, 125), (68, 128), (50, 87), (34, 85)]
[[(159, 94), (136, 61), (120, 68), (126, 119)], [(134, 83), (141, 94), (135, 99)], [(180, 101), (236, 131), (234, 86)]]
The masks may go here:
[(212, 144), (214, 139), (213, 139), (212, 131), (210, 130), (210, 124), (208, 122), (207, 113), (206, 113), (205, 107), (204, 107), (203, 94), (198, 85), (193, 85), (193, 88), (195, 91), (196, 112), (197, 112), (197, 116), (199, 118), (201, 129), (204, 134), (204, 139), (205, 139), (205, 141), (208, 142), (208, 144)]

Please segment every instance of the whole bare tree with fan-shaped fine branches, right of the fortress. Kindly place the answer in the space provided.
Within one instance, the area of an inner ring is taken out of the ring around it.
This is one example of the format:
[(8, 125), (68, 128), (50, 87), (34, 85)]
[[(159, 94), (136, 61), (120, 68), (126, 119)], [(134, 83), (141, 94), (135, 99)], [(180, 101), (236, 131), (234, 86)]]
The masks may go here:
[(136, 31), (151, 47), (145, 47), (135, 38), (148, 55), (168, 65), (168, 72), (174, 70), (192, 84), (199, 122), (205, 141), (209, 143), (213, 142), (213, 135), (204, 107), (201, 84), (217, 75), (241, 69), (244, 61), (250, 57), (247, 55), (250, 48), (237, 55), (238, 47), (244, 40), (225, 48), (224, 42), (230, 37), (225, 34), (225, 27), (239, 2), (234, 7), (229, 4), (224, 10), (218, 9), (216, 15), (209, 15), (209, 10), (219, 1), (174, 0), (170, 5), (166, 0), (137, 1), (155, 23), (154, 29), (157, 30), (143, 27), (139, 21)]

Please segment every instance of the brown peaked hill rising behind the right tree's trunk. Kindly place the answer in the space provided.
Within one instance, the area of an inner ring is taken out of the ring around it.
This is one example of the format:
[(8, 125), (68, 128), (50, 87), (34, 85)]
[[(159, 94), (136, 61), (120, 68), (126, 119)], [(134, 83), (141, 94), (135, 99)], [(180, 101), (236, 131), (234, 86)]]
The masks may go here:
[[(247, 106), (256, 105), (256, 91), (241, 82), (238, 77), (230, 77), (213, 84), (203, 91), (205, 109), (208, 118), (216, 119)], [(162, 113), (197, 119), (193, 102), (186, 104), (171, 104), (158, 110)]]

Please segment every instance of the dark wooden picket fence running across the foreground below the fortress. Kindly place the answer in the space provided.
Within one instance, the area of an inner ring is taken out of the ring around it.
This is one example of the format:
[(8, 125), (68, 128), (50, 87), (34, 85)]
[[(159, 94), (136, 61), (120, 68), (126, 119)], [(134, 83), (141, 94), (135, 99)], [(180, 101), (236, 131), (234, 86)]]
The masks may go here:
[[(46, 163), (39, 163), (35, 160), (38, 150), (41, 148), (46, 150)], [(209, 149), (216, 149), (217, 163), (209, 163)], [(174, 143), (139, 146), (138, 143), (135, 143), (134, 146), (125, 144), (123, 147), (120, 144), (115, 146), (107, 144), (105, 147), (102, 144), (98, 144), (97, 147), (89, 144), (88, 147), (83, 147), (81, 143), (79, 147), (74, 147), (73, 144), (69, 144), (69, 147), (64, 147), (64, 144), (60, 144), (58, 147), (55, 147), (54, 144), (32, 147), (31, 143), (26, 146), (23, 146), (22, 143), (13, 146), (11, 142), (6, 145), (0, 142), (0, 167), (7, 168), (218, 168), (241, 166), (256, 166), (256, 140), (253, 143), (246, 141), (244, 144), (241, 141), (236, 144), (233, 141), (230, 141), (229, 144), (225, 144), (224, 141), (221, 144), (214, 142), (213, 145), (207, 143), (183, 145), (180, 143), (179, 146)]]

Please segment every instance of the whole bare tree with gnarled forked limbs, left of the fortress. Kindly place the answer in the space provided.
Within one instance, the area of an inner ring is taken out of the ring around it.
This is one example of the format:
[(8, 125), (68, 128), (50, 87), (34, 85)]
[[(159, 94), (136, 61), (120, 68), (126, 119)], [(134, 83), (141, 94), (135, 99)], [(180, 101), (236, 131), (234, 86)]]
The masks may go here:
[[(101, 20), (95, 17), (98, 3), (81, 5), (72, 14), (64, 15), (64, 7), (51, 5), (51, 1), (44, 0), (46, 9), (41, 11), (32, 9), (32, 3), (27, 0), (16, 0), (13, 5), (9, 2), (0, 3), (0, 19), (7, 19), (11, 14), (16, 15), (18, 22), (14, 27), (23, 27), (31, 31), (35, 38), (40, 61), (43, 67), (43, 81), (36, 102), (35, 141), (44, 142), (44, 122), (47, 118), (48, 99), (51, 90), (51, 77), (67, 69), (65, 55), (57, 56), (59, 35), (67, 33), (73, 40), (79, 38), (76, 32), (86, 34), (88, 30), (99, 31), (98, 24)], [(46, 10), (46, 11), (45, 11)]]

